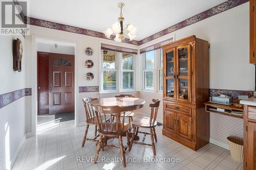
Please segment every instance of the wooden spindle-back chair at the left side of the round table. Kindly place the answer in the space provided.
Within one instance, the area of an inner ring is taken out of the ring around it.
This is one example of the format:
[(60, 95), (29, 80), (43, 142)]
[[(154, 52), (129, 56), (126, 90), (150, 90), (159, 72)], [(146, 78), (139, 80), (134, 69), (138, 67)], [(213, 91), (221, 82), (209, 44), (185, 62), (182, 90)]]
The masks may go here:
[[(83, 136), (83, 140), (82, 140), (82, 147), (84, 147), (84, 143), (86, 142), (86, 140), (90, 140), (90, 141), (97, 141), (97, 137), (99, 137), (99, 135), (97, 135), (97, 118), (96, 115), (94, 113), (94, 110), (92, 109), (91, 106), (91, 102), (98, 100), (97, 98), (84, 98), (82, 99), (83, 105), (84, 105), (84, 109), (86, 110), (86, 131), (84, 132), (84, 136)], [(87, 133), (88, 133), (88, 129), (90, 125), (94, 125), (95, 126), (95, 131), (94, 131), (94, 138), (86, 138), (87, 137)]]

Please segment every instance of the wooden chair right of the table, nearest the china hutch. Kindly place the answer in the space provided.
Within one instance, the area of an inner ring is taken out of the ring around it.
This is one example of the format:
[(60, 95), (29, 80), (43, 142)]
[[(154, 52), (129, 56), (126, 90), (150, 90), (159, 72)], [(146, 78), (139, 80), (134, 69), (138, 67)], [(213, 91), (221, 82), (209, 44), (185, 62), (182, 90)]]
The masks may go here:
[[(157, 118), (157, 112), (158, 112), (160, 100), (153, 99), (152, 102), (153, 103), (150, 104), (150, 107), (151, 107), (150, 117), (135, 117), (133, 120), (133, 135), (132, 135), (129, 151), (131, 151), (133, 143), (137, 143), (137, 144), (141, 144), (141, 145), (151, 146), (153, 149), (154, 155), (156, 155), (156, 147), (155, 147), (154, 138), (157, 142), (157, 135), (156, 135), (155, 127), (157, 126), (156, 118)], [(138, 131), (139, 128), (148, 128), (148, 129), (150, 129), (150, 133), (140, 132), (140, 131)], [(142, 142), (134, 141), (134, 136), (136, 135), (136, 133), (144, 134)], [(144, 143), (146, 135), (151, 136), (151, 142), (152, 142), (151, 144)]]

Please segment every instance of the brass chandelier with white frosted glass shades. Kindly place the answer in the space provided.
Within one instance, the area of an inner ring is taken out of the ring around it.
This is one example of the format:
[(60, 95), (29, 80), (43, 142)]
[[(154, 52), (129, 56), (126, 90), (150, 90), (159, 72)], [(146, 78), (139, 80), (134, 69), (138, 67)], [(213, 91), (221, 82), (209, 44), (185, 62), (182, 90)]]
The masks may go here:
[(136, 34), (138, 32), (138, 29), (131, 25), (130, 23), (127, 25), (124, 25), (123, 27), (123, 14), (122, 14), (122, 8), (124, 7), (124, 3), (118, 3), (118, 7), (120, 8), (120, 16), (118, 17), (119, 22), (115, 22), (110, 28), (106, 29), (103, 33), (107, 38), (110, 38), (110, 36), (114, 33), (116, 34), (115, 41), (122, 42), (125, 38), (125, 34), (129, 36), (130, 41), (134, 40), (136, 37)]

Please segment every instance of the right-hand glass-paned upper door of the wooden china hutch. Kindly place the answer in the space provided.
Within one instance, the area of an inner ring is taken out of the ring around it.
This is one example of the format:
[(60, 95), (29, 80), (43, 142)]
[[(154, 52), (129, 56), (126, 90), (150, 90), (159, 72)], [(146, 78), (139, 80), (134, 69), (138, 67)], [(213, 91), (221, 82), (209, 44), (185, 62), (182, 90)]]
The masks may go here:
[[(190, 45), (177, 48), (177, 100), (190, 101)], [(190, 101), (191, 102), (191, 101)]]

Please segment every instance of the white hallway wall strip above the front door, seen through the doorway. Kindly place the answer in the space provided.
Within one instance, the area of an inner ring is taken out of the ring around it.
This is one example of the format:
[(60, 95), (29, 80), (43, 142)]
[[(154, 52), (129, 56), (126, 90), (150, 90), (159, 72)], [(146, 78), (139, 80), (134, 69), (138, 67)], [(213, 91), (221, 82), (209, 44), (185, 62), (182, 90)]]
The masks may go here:
[(60, 44), (58, 44), (57, 48), (55, 48), (54, 44), (37, 43), (37, 51), (38, 52), (75, 55), (74, 46), (62, 46)]

